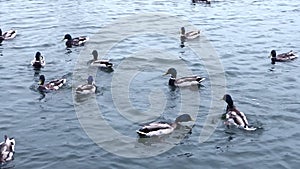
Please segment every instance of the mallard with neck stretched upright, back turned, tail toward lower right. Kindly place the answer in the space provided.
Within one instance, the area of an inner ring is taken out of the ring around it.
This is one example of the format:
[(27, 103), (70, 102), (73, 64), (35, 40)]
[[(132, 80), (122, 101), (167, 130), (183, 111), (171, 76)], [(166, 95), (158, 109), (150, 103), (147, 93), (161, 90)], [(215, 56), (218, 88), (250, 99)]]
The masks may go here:
[(234, 125), (238, 128), (243, 128), (244, 130), (253, 131), (256, 130), (255, 127), (249, 127), (248, 120), (246, 115), (243, 112), (240, 112), (233, 104), (233, 100), (229, 94), (225, 94), (222, 98), (227, 103), (226, 108), (226, 121), (225, 125), (230, 126)]

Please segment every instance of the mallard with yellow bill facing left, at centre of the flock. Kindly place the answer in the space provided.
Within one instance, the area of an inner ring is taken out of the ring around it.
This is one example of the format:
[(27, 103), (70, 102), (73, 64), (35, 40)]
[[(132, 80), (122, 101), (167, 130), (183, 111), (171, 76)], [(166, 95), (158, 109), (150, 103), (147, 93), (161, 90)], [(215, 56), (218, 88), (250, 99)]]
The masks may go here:
[(175, 68), (169, 68), (168, 71), (164, 74), (164, 76), (168, 74), (171, 75), (171, 78), (169, 79), (169, 85), (175, 87), (195, 86), (199, 85), (202, 81), (205, 80), (204, 77), (199, 77), (196, 75), (176, 79), (177, 71)]

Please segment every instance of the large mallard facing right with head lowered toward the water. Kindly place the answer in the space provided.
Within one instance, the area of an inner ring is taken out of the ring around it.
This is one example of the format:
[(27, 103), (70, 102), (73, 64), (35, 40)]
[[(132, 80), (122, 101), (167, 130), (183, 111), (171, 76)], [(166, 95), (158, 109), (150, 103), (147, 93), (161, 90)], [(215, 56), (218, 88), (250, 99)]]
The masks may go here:
[(166, 135), (172, 133), (179, 123), (189, 121), (194, 121), (194, 119), (189, 114), (182, 114), (178, 116), (173, 123), (154, 122), (143, 126), (139, 130), (136, 130), (136, 132), (140, 137)]

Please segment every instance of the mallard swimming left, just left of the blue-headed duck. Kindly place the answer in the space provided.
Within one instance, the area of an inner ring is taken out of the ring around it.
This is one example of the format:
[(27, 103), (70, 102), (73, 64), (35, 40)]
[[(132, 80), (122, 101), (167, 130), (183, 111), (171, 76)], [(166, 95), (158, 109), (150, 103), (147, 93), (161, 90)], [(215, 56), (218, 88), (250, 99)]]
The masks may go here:
[(49, 90), (58, 90), (61, 88), (65, 83), (67, 82), (66, 79), (56, 79), (48, 82), (45, 84), (45, 76), (40, 75), (40, 81), (39, 81), (39, 91), (49, 91)]

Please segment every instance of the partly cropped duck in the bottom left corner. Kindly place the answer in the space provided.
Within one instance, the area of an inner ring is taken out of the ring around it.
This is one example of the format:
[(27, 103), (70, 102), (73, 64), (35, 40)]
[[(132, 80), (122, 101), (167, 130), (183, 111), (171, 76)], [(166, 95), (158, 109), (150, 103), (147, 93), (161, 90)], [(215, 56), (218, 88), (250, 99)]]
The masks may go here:
[(0, 143), (0, 163), (5, 163), (14, 159), (15, 145), (16, 141), (14, 138), (9, 138), (7, 135), (4, 136), (4, 141)]

